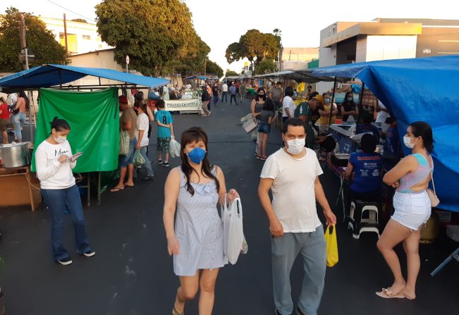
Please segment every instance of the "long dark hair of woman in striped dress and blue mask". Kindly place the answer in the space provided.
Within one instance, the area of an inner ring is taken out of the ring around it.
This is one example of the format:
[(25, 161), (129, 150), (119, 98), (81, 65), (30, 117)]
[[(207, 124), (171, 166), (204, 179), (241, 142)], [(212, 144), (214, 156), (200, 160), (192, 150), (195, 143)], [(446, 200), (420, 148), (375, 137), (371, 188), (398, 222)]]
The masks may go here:
[[(198, 178), (201, 178), (200, 176), (201, 174), (198, 174), (195, 171), (195, 169), (192, 168), (190, 161), (188, 161), (188, 156), (185, 154), (185, 147), (187, 144), (202, 141), (204, 142), (204, 145), (206, 146), (206, 150), (208, 150), (209, 149), (209, 147), (207, 147), (208, 138), (207, 138), (206, 132), (204, 132), (202, 128), (192, 127), (192, 128), (185, 130), (182, 133), (180, 139), (181, 139), (181, 148), (182, 148), (180, 150), (180, 159), (182, 160), (181, 168), (186, 177), (185, 187), (186, 187), (186, 190), (190, 192), (190, 194), (193, 196), (195, 194), (195, 189), (190, 184), (191, 173), (195, 172)], [(216, 184), (216, 191), (219, 192), (220, 190), (219, 180), (216, 178), (214, 174), (212, 174), (212, 170), (215, 168), (215, 166), (209, 163), (209, 160), (207, 159), (207, 154), (208, 152), (206, 152), (206, 155), (204, 156), (204, 160), (202, 160), (202, 175), (204, 175), (207, 178), (212, 178), (212, 180), (214, 180)]]

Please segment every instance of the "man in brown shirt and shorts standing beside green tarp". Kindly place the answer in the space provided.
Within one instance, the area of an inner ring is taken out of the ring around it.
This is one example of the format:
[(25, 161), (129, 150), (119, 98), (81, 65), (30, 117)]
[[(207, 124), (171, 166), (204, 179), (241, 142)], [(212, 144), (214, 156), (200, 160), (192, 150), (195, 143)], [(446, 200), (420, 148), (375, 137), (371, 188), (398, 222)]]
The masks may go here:
[[(120, 155), (118, 159), (118, 165), (120, 168), (120, 179), (118, 184), (113, 187), (111, 192), (119, 192), (123, 190), (125, 186), (133, 187), (134, 186), (134, 164), (133, 157), (135, 151), (135, 145), (137, 144), (137, 139), (135, 138), (135, 130), (137, 130), (137, 114), (132, 107), (128, 105), (128, 98), (124, 95), (118, 97), (120, 104), (120, 111), (123, 111), (120, 118), (120, 131), (126, 130), (129, 134), (129, 153), (127, 155)], [(126, 183), (124, 179), (126, 178), (126, 173), (128, 173), (128, 180)]]

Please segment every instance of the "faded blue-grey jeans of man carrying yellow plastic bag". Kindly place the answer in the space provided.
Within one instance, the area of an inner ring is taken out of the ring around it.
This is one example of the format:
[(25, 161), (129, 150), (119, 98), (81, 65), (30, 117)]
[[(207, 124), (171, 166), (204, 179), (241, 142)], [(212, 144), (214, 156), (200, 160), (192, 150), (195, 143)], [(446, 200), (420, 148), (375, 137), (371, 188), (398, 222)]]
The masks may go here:
[(305, 269), (298, 307), (303, 314), (316, 315), (325, 283), (326, 244), (323, 226), (319, 226), (315, 232), (284, 233), (271, 240), (274, 304), (282, 315), (293, 313), (290, 271), (298, 254), (302, 256)]

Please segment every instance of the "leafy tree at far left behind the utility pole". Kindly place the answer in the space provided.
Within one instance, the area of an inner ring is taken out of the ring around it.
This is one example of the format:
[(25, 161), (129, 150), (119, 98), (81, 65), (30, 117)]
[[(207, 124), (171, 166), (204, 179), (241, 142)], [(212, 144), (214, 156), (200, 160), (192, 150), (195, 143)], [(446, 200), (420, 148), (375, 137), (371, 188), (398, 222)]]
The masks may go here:
[[(39, 66), (45, 63), (65, 64), (68, 58), (66, 49), (62, 47), (46, 25), (36, 16), (30, 13), (22, 13), (25, 20), (25, 41), (27, 47), (35, 54), (35, 61), (29, 63), (29, 67)], [(18, 54), (20, 47), (21, 13), (17, 8), (8, 8), (5, 14), (0, 16), (0, 71), (17, 72), (24, 70), (19, 62)]]

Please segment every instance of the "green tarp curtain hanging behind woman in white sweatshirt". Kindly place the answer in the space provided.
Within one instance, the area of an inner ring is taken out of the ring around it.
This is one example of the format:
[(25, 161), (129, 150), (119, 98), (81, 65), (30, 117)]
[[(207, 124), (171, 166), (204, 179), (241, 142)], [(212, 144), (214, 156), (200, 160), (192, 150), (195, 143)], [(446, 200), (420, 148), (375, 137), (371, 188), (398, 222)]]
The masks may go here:
[[(47, 139), (55, 116), (68, 121), (72, 152), (82, 152), (75, 173), (118, 167), (119, 108), (116, 87), (94, 92), (40, 89), (35, 148)], [(35, 171), (35, 154), (32, 156)]]

